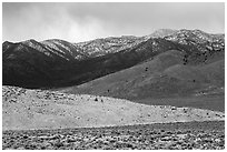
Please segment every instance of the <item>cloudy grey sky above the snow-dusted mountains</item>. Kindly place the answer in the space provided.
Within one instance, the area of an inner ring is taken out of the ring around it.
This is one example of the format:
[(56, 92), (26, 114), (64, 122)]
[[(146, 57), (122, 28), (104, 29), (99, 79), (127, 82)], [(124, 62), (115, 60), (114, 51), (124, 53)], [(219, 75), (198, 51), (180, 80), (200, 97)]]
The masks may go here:
[(223, 3), (3, 3), (3, 41), (146, 36), (157, 29), (225, 32)]

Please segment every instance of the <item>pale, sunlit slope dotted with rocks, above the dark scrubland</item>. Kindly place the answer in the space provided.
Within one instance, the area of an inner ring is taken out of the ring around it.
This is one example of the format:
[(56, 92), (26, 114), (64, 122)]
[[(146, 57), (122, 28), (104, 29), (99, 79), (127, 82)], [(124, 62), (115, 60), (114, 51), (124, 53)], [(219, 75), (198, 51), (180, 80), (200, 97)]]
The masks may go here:
[(2, 88), (2, 129), (60, 129), (225, 120), (223, 112), (95, 95)]

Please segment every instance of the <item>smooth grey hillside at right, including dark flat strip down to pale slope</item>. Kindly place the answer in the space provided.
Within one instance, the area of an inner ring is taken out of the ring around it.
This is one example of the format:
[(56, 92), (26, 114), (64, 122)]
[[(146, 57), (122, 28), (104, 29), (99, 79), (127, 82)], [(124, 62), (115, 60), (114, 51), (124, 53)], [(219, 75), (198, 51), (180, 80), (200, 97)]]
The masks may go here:
[[(169, 50), (147, 62), (61, 91), (223, 111), (225, 57), (216, 53), (206, 63), (196, 65), (184, 64), (184, 57), (181, 51)], [(184, 98), (191, 99), (193, 103), (180, 102)]]

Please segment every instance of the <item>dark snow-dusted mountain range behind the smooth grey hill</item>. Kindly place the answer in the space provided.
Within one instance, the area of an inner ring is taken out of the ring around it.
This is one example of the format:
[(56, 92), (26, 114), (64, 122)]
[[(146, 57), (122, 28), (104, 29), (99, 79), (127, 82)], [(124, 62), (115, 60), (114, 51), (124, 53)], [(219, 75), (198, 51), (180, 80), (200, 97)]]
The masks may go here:
[(4, 42), (2, 79), (3, 84), (23, 88), (78, 85), (137, 64), (155, 62), (157, 55), (169, 50), (180, 53), (177, 62), (182, 65), (214, 63), (210, 67), (215, 68), (215, 62), (225, 53), (224, 42), (224, 34), (199, 30), (159, 30), (146, 37), (110, 37), (80, 43), (56, 39)]

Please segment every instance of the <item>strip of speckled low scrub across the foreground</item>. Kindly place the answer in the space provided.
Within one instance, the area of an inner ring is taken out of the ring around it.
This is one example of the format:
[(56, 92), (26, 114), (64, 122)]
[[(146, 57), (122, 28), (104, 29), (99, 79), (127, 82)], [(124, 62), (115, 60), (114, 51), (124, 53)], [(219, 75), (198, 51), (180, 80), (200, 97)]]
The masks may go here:
[(224, 150), (225, 122), (4, 131), (3, 150)]

